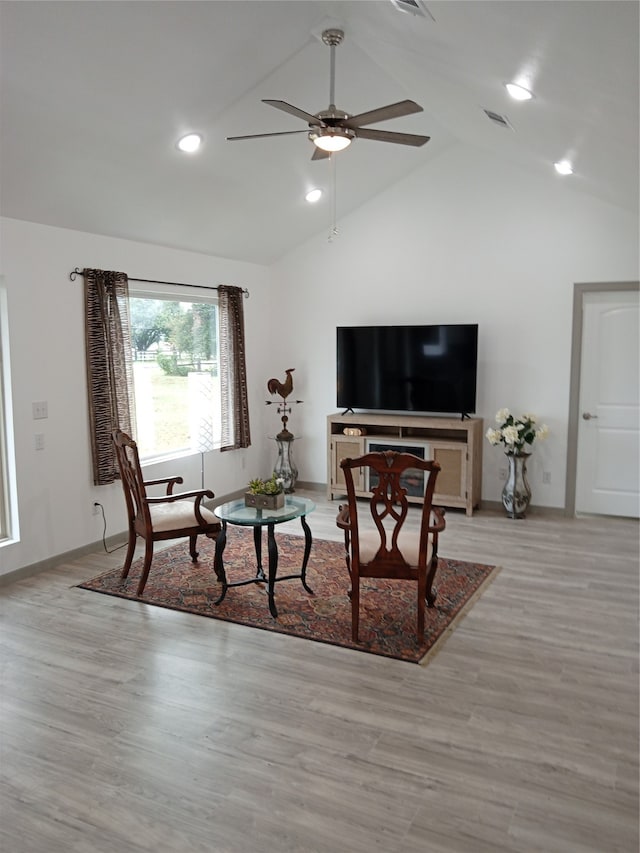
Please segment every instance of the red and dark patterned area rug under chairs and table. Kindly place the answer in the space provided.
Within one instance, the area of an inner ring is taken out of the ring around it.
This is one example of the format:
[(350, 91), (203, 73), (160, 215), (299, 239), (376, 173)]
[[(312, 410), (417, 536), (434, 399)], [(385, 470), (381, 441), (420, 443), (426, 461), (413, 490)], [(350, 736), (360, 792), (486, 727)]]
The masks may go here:
[[(276, 539), (278, 576), (299, 574), (304, 539), (284, 533), (276, 533)], [(454, 624), (497, 572), (495, 566), (440, 558), (434, 583), (436, 606), (426, 609), (424, 643), (418, 643), (416, 638), (416, 584), (401, 580), (362, 580), (360, 642), (356, 644), (351, 640), (351, 604), (347, 595), (349, 577), (341, 542), (314, 540), (307, 567), (307, 584), (314, 595), (304, 590), (300, 580), (276, 583), (277, 619), (269, 613), (265, 584), (228, 589), (224, 601), (216, 606), (214, 602), (219, 596), (220, 585), (213, 571), (214, 543), (201, 537), (198, 550), (197, 563), (191, 562), (186, 540), (158, 551), (140, 599), (136, 596), (136, 587), (141, 560), (133, 563), (129, 577), (124, 581), (120, 579), (120, 569), (116, 569), (78, 586), (157, 607), (237, 622), (251, 628), (423, 663), (449, 635)], [(265, 542), (263, 562), (266, 551)], [(224, 561), (229, 582), (255, 575), (252, 531), (228, 528)]]

